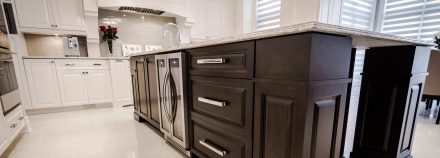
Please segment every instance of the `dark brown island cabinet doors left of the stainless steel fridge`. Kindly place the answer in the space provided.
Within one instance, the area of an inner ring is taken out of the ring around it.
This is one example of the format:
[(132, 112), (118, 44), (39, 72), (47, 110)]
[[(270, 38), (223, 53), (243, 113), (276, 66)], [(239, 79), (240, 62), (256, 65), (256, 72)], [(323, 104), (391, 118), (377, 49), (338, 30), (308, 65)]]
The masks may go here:
[(159, 129), (160, 115), (154, 56), (134, 57), (130, 64), (135, 118), (139, 121), (145, 120)]

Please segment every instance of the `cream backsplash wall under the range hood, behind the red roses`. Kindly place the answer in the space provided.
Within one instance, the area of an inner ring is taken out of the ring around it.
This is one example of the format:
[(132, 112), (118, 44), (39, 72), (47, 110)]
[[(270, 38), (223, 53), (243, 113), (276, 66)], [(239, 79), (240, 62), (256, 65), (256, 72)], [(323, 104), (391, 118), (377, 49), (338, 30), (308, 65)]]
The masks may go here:
[[(108, 26), (103, 18), (120, 19), (116, 24), (118, 28), (118, 40), (113, 45), (119, 45), (113, 49), (114, 54), (122, 51), (121, 44), (140, 44), (168, 46), (169, 42), (162, 37), (162, 27), (166, 23), (175, 23), (172, 17), (154, 16), (147, 14), (127, 13), (113, 10), (99, 9), (99, 26)], [(98, 28), (97, 28), (98, 29)], [(173, 32), (175, 35), (175, 32)], [(102, 35), (102, 34), (101, 34)], [(100, 43), (101, 56), (108, 56), (108, 46), (106, 42)]]

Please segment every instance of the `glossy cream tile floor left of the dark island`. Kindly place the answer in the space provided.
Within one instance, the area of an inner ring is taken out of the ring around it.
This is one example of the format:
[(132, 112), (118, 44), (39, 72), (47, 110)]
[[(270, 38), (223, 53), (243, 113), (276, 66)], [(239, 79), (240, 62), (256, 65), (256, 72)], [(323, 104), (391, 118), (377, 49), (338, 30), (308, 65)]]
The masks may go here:
[(132, 107), (29, 116), (32, 131), (1, 158), (181, 158)]

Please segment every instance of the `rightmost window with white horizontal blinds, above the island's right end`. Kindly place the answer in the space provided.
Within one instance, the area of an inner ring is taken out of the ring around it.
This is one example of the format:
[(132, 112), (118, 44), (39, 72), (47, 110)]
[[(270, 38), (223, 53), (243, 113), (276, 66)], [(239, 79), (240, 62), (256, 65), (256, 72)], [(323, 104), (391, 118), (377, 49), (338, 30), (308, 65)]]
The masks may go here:
[(440, 31), (439, 0), (387, 0), (382, 32), (433, 41)]

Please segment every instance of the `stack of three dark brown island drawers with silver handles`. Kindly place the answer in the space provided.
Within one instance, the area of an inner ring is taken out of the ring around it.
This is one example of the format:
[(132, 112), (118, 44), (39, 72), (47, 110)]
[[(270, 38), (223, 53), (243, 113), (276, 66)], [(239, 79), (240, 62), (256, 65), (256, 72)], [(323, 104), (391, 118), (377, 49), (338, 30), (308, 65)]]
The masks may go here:
[(252, 157), (255, 42), (188, 52), (192, 153), (198, 157)]

